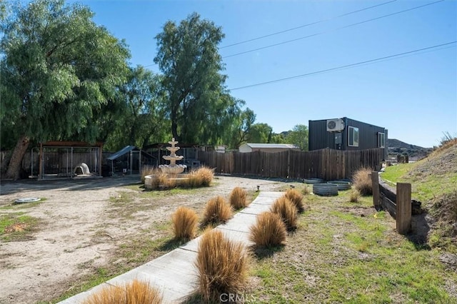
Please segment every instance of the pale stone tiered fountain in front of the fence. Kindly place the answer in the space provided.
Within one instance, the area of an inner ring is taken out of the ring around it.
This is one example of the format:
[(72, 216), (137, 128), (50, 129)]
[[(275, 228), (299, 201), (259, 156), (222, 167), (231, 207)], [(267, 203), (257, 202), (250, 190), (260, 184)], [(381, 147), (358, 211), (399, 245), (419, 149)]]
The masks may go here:
[[(178, 141), (175, 141), (174, 138), (171, 138), (171, 141), (169, 141), (169, 144), (171, 147), (166, 147), (168, 151), (170, 151), (170, 155), (165, 155), (162, 156), (166, 161), (169, 161), (169, 165), (160, 165), (159, 168), (160, 170), (166, 174), (167, 178), (169, 179), (176, 179), (176, 180), (183, 180), (188, 178), (187, 174), (183, 174), (184, 169), (187, 168), (186, 165), (180, 165), (176, 164), (176, 161), (181, 161), (181, 159), (184, 158), (184, 156), (177, 156), (176, 151), (179, 150), (179, 147), (176, 147), (176, 143)], [(153, 184), (154, 181), (156, 180), (157, 176), (155, 174), (151, 174), (150, 176), (145, 176), (144, 177), (144, 186), (147, 189), (154, 188)]]

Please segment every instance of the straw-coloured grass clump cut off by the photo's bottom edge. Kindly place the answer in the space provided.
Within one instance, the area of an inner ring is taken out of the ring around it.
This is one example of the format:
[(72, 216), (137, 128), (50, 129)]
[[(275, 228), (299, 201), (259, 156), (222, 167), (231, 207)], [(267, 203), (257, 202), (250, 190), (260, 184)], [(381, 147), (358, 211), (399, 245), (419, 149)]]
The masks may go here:
[(133, 280), (124, 286), (109, 286), (102, 288), (89, 298), (84, 304), (160, 304), (162, 295), (157, 288), (149, 283)]

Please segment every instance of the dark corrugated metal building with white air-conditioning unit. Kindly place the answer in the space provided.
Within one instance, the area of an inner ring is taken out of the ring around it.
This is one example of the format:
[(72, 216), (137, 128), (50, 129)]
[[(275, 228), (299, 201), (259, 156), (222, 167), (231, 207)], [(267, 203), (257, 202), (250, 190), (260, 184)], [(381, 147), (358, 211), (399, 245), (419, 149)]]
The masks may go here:
[(387, 159), (387, 129), (351, 118), (309, 121), (309, 151), (323, 148), (354, 151), (382, 148)]

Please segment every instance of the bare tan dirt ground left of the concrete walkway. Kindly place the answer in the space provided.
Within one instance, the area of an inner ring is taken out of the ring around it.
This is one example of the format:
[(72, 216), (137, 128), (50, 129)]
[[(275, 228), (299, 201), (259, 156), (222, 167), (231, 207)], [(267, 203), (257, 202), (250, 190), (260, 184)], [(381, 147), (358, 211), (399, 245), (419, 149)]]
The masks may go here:
[[(30, 208), (25, 204), (0, 208), (0, 216), (24, 212), (39, 218), (38, 228), (26, 240), (0, 240), (0, 303), (36, 303), (59, 297), (73, 282), (113, 260), (116, 248), (150, 230), (151, 223), (169, 222), (178, 206), (201, 211), (210, 198), (228, 198), (236, 186), (276, 191), (287, 185), (216, 176), (209, 188), (146, 200), (138, 189), (125, 187), (135, 183), (139, 176), (1, 183), (0, 207), (11, 206), (18, 198), (46, 199)], [(147, 201), (147, 208), (126, 212), (113, 204), (126, 193), (135, 193), (132, 197), (138, 203)], [(154, 234), (159, 233), (149, 231), (148, 237), (154, 238)]]

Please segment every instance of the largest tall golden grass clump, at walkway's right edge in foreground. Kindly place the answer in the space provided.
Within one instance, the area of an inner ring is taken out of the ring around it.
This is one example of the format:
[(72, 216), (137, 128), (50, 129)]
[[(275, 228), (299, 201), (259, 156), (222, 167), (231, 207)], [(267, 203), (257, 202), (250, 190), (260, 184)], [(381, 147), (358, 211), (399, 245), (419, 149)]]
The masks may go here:
[(241, 243), (209, 230), (201, 237), (196, 268), (201, 298), (219, 303), (222, 293), (239, 293), (246, 284), (248, 255)]

